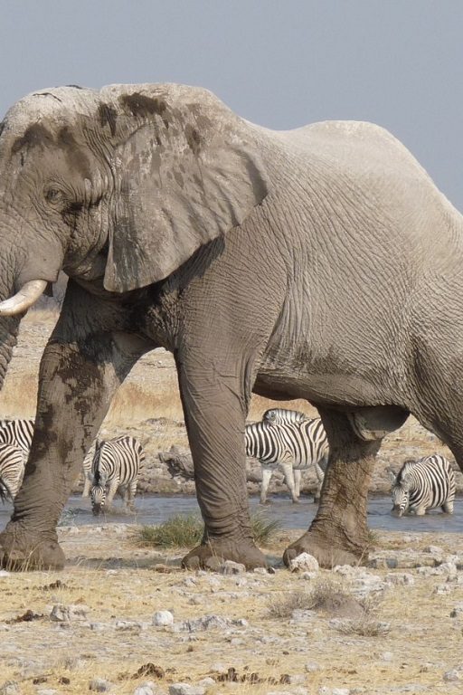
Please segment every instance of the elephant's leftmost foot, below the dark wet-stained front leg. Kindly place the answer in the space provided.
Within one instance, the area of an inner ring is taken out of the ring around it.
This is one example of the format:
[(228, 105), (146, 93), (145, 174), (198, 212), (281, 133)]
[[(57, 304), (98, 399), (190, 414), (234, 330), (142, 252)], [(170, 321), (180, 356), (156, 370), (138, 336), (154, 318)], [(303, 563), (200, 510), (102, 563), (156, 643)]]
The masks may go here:
[[(54, 535), (54, 534), (53, 534)], [(0, 533), (0, 566), (10, 571), (62, 569), (66, 558), (56, 536), (43, 538), (9, 524)]]

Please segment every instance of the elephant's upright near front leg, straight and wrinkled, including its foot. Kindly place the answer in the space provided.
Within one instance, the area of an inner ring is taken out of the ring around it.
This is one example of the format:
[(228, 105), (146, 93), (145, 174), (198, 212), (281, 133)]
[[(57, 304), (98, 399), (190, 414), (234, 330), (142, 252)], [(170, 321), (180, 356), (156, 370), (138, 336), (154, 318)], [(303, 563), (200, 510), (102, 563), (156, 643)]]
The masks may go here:
[(223, 376), (233, 367), (210, 373), (213, 367), (203, 355), (194, 367), (177, 362), (177, 368), (205, 527), (201, 546), (184, 557), (183, 566), (213, 568), (221, 559), (247, 568), (266, 566), (252, 538), (244, 443), (247, 402), (239, 379)]

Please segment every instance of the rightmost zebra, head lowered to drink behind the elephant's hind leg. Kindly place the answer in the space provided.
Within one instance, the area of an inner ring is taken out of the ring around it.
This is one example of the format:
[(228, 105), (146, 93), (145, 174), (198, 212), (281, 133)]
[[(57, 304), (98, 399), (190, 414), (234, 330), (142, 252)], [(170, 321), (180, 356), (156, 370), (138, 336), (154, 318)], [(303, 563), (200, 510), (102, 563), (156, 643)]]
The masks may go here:
[(403, 463), (392, 480), (392, 514), (402, 517), (407, 511), (422, 516), (427, 509), (441, 507), (453, 513), (455, 476), (450, 463), (439, 453), (418, 461)]

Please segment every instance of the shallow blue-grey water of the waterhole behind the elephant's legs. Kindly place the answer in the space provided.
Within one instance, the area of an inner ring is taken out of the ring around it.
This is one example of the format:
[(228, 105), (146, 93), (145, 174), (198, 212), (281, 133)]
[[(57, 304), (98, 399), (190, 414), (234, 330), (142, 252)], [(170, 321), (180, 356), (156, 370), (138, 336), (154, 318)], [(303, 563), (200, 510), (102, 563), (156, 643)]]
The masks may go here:
[[(309, 498), (301, 498), (299, 504), (293, 504), (286, 497), (270, 497), (271, 503), (261, 507), (259, 497), (250, 497), (250, 509), (261, 510), (267, 519), (279, 519), (282, 528), (307, 528), (314, 518), (317, 505)], [(136, 499), (135, 514), (124, 512), (122, 500), (114, 501), (114, 510), (110, 514), (93, 517), (90, 509), (90, 499), (82, 499), (73, 495), (64, 509), (61, 517), (63, 526), (85, 526), (103, 523), (137, 523), (160, 524), (175, 514), (199, 514), (196, 499), (192, 496), (175, 495), (160, 497), (143, 495)], [(372, 498), (368, 505), (368, 526), (390, 531), (463, 531), (463, 500), (456, 500), (453, 515), (442, 514), (439, 509), (431, 511), (424, 517), (407, 516), (398, 519), (392, 517), (391, 499), (388, 497)], [(0, 528), (10, 518), (11, 504), (0, 506)]]

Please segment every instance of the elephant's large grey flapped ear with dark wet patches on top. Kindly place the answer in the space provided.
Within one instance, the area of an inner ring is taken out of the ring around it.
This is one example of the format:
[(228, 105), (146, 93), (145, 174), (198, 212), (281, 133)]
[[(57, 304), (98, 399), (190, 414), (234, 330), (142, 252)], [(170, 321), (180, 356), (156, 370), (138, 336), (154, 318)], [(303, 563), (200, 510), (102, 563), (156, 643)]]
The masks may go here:
[(255, 131), (209, 92), (132, 92), (118, 105), (130, 134), (117, 148), (104, 286), (123, 292), (164, 280), (241, 224), (269, 186)]

